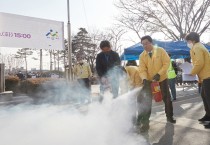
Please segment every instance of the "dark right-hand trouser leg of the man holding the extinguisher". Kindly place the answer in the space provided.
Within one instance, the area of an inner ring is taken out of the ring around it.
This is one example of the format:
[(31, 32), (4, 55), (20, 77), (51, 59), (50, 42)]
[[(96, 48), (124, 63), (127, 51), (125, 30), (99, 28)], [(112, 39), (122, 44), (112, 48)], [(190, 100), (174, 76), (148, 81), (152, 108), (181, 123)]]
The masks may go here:
[(173, 117), (173, 105), (171, 101), (171, 95), (169, 92), (168, 79), (160, 82), (160, 90), (163, 96), (163, 102), (165, 104), (165, 113), (167, 118)]

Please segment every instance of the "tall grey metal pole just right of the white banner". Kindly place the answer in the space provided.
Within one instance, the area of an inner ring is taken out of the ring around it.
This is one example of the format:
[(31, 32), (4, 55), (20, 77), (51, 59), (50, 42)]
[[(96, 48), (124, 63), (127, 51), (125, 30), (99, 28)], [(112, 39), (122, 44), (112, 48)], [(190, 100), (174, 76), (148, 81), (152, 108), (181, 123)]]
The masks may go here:
[(69, 72), (68, 79), (69, 81), (73, 80), (72, 75), (72, 46), (71, 46), (71, 24), (70, 24), (70, 10), (69, 10), (69, 0), (67, 0), (67, 13), (68, 13), (68, 64), (69, 64)]

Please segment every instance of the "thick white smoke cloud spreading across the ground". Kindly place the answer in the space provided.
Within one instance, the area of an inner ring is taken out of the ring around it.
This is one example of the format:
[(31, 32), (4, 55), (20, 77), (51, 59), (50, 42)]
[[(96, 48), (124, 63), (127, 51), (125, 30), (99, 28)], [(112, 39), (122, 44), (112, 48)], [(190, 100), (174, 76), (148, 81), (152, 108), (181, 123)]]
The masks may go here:
[(80, 108), (46, 103), (2, 106), (1, 145), (148, 145), (131, 131), (130, 100), (136, 91), (114, 100), (106, 95), (102, 103)]

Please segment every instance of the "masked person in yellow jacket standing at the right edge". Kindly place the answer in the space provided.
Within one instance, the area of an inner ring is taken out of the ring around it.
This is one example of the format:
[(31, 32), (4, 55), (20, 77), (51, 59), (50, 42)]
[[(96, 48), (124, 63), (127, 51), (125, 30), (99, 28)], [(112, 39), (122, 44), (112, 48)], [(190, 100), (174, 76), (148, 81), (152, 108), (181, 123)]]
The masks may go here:
[[(206, 114), (198, 121), (205, 123), (210, 121), (210, 55), (206, 47), (200, 43), (200, 36), (196, 32), (190, 32), (185, 39), (193, 63), (191, 75), (197, 74), (199, 82), (202, 83), (201, 97)], [(205, 128), (210, 128), (210, 123), (205, 125)]]

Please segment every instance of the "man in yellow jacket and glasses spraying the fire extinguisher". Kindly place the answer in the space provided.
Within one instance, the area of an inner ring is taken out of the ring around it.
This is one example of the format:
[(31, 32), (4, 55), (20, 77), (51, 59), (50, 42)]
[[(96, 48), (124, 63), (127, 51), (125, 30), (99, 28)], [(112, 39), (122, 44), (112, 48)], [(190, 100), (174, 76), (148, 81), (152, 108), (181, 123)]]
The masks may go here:
[(160, 83), (167, 121), (176, 123), (173, 118), (173, 106), (167, 79), (170, 58), (163, 48), (153, 46), (153, 40), (150, 36), (142, 37), (141, 43), (144, 51), (139, 56), (139, 73), (143, 84), (148, 81), (158, 81)]

